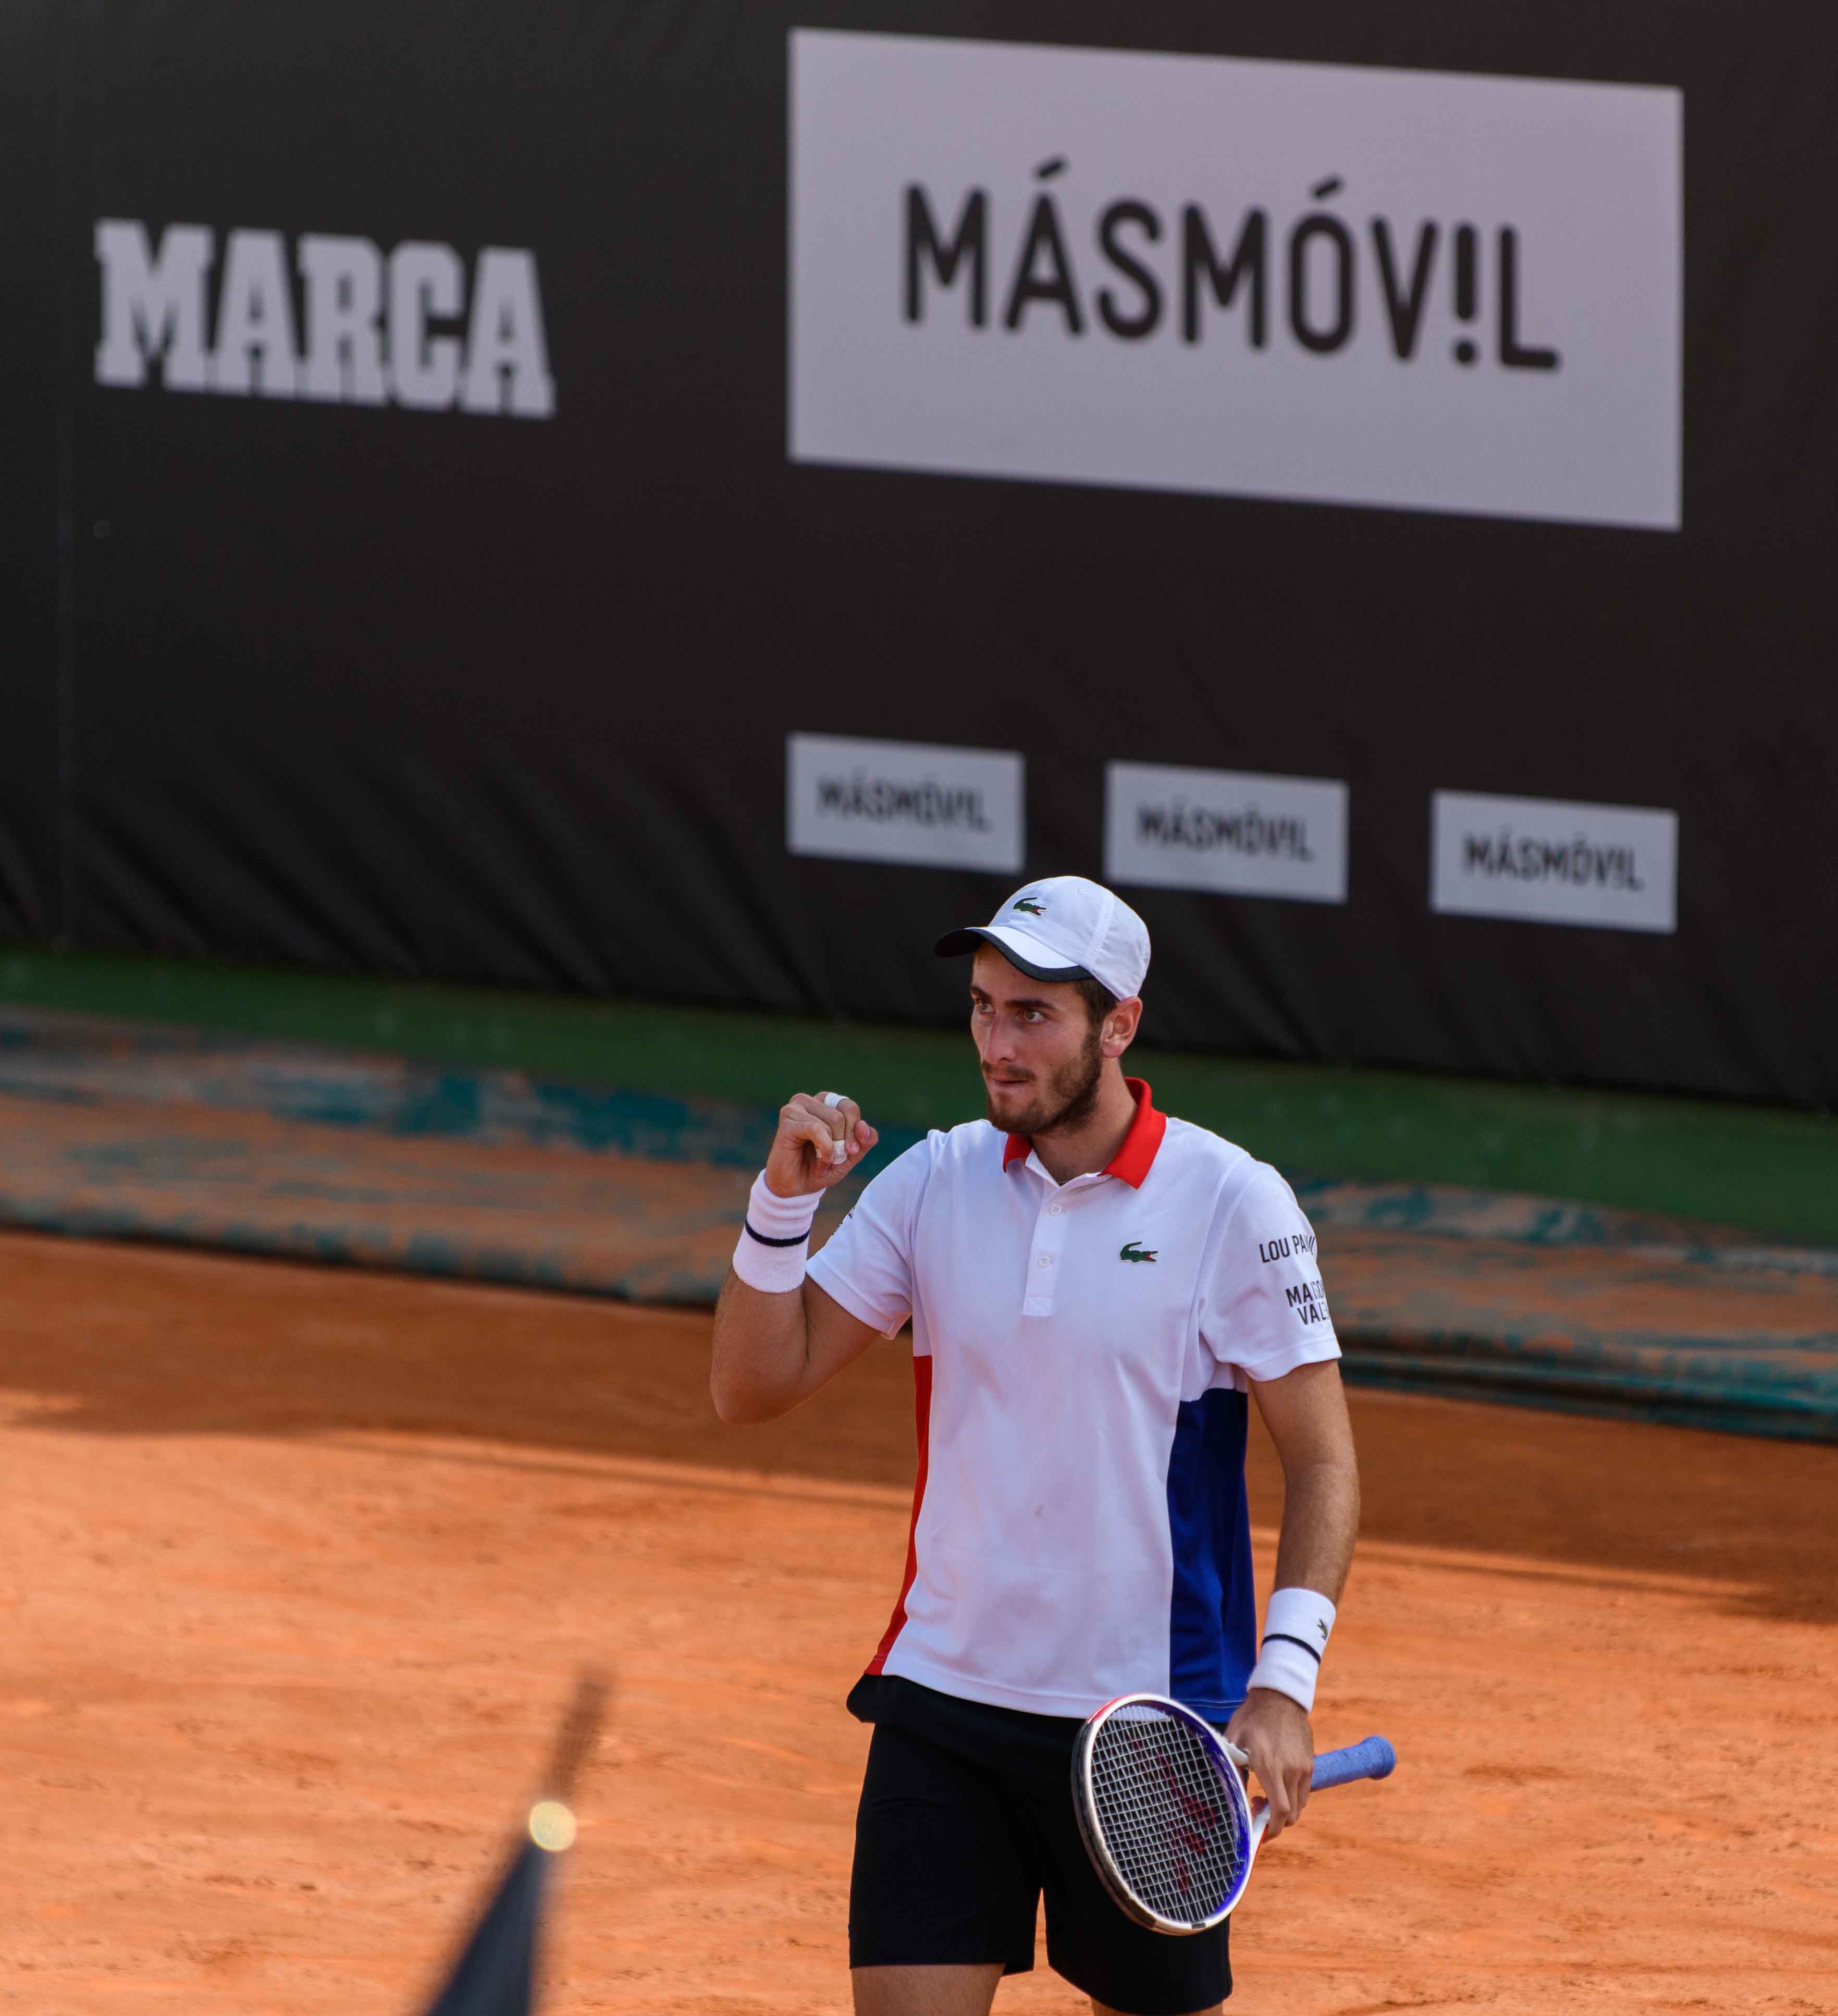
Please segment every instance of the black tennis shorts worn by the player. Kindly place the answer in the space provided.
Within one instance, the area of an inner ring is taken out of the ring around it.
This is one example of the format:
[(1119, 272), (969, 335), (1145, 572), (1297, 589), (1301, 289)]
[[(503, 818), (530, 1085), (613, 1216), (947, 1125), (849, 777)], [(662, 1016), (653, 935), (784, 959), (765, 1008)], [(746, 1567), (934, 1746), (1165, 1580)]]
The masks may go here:
[(1026, 1716), (877, 1675), (848, 1695), (875, 1724), (855, 1820), (850, 1968), (1046, 1958), (1074, 1988), (1129, 2016), (1189, 2016), (1231, 1994), (1231, 1919), (1173, 1937), (1110, 1901), (1072, 1812), (1078, 1722)]

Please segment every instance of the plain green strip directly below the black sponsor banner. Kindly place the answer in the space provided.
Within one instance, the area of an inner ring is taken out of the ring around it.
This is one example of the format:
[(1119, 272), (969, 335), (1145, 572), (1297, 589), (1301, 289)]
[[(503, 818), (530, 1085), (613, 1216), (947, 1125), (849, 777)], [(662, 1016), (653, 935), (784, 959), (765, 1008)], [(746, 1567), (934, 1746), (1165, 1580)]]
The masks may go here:
[[(871, 1119), (977, 1111), (967, 1036), (715, 1008), (38, 950), (0, 1000), (516, 1068), (673, 1099), (776, 1105), (840, 1087)], [(1461, 1183), (1838, 1244), (1838, 1121), (1643, 1093), (1497, 1085), (1143, 1050), (1157, 1103), (1300, 1175)]]

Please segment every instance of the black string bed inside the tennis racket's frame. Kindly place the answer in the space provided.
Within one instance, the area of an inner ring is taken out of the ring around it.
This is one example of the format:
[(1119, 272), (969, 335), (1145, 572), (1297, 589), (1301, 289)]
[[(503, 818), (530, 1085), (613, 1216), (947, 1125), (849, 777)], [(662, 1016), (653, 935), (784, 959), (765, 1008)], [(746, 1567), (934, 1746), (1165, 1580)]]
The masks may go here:
[(1239, 1806), (1205, 1742), (1153, 1710), (1117, 1714), (1090, 1760), (1092, 1806), (1119, 1875), (1159, 1917), (1201, 1925), (1245, 1867)]

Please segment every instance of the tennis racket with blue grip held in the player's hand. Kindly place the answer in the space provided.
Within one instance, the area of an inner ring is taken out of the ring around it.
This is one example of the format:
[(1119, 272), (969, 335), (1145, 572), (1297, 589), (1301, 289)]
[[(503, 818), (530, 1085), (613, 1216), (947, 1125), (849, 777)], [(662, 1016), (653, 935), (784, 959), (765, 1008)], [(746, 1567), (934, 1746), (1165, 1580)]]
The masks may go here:
[[(1117, 1903), (1151, 1931), (1209, 1931), (1237, 1909), (1270, 1808), (1258, 1810), (1243, 1752), (1159, 1693), (1106, 1702), (1072, 1746), (1072, 1806), (1086, 1853)], [(1314, 1760), (1316, 1792), (1389, 1778), (1383, 1736)]]

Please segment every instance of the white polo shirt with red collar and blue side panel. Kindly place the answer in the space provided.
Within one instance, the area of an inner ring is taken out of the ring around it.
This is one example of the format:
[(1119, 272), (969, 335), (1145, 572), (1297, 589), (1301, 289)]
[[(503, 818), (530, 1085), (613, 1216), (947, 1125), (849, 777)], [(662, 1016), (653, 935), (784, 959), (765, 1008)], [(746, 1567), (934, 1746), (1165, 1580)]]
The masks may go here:
[(1096, 1175), (1054, 1183), (988, 1121), (933, 1131), (810, 1262), (863, 1322), (913, 1318), (907, 1574), (869, 1671), (1042, 1716), (1147, 1689), (1225, 1720), (1258, 1657), (1245, 1379), (1340, 1347), (1290, 1185), (1127, 1083), (1137, 1117)]

